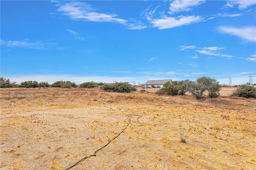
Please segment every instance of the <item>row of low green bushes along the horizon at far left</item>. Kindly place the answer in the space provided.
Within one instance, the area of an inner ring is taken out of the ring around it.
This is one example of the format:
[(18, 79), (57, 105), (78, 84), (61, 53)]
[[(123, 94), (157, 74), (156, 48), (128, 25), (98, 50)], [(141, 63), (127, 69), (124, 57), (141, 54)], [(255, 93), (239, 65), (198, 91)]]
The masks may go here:
[(37, 81), (26, 81), (26, 82), (21, 82), (20, 85), (16, 84), (16, 82), (10, 82), (9, 79), (0, 78), (0, 88), (37, 88), (37, 87), (62, 87), (62, 88), (76, 88), (76, 87), (81, 87), (81, 88), (94, 88), (96, 86), (103, 85), (104, 83), (96, 83), (96, 82), (84, 82), (80, 85), (77, 85), (75, 82), (70, 82), (70, 81), (57, 81), (54, 82), (53, 84), (49, 84), (48, 82), (40, 82), (38, 83)]

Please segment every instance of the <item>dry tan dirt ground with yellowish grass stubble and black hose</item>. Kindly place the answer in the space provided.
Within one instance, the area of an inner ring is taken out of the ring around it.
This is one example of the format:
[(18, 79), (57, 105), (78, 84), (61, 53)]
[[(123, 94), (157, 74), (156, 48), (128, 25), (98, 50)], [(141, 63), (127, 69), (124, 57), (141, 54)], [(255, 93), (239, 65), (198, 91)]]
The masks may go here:
[(228, 92), (198, 101), (140, 89), (1, 89), (0, 170), (64, 170), (116, 137), (128, 114), (141, 117), (71, 169), (254, 170), (256, 100)]

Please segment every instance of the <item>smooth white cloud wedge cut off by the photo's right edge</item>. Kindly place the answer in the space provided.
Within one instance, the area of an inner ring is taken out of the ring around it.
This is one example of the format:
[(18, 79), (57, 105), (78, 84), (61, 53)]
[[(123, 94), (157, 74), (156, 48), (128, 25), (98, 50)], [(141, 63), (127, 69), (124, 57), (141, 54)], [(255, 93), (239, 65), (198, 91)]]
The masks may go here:
[(242, 28), (220, 26), (218, 27), (218, 30), (222, 33), (235, 35), (248, 41), (256, 41), (256, 27), (253, 26)]

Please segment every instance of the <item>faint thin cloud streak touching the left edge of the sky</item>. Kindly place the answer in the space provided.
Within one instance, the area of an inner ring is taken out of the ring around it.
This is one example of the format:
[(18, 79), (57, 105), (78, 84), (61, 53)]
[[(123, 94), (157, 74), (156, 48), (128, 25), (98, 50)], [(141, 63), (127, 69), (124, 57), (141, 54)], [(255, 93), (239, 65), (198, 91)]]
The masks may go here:
[(20, 48), (28, 48), (28, 49), (49, 49), (50, 47), (56, 45), (57, 43), (52, 43), (48, 41), (35, 41), (30, 42), (28, 39), (24, 41), (1, 41), (1, 46), (7, 46), (7, 47), (20, 47)]

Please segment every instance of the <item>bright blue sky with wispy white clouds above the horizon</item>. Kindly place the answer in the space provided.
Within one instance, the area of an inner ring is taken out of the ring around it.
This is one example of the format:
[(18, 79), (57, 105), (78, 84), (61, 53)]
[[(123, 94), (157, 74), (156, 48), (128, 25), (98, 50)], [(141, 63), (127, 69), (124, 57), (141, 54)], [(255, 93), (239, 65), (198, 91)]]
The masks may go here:
[(0, 75), (11, 82), (256, 76), (256, 0), (1, 0), (0, 8)]

